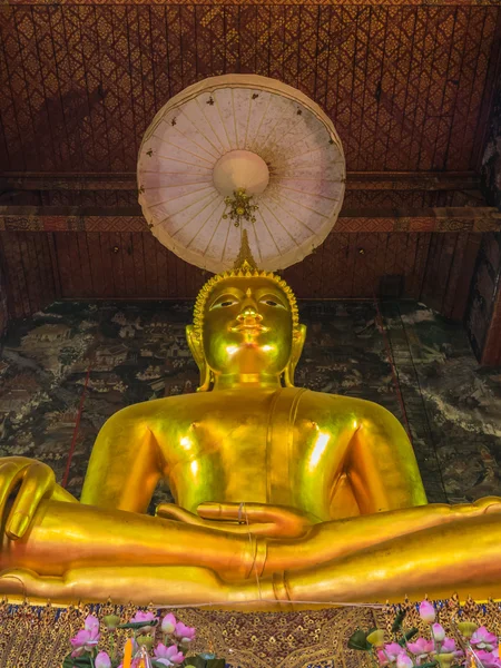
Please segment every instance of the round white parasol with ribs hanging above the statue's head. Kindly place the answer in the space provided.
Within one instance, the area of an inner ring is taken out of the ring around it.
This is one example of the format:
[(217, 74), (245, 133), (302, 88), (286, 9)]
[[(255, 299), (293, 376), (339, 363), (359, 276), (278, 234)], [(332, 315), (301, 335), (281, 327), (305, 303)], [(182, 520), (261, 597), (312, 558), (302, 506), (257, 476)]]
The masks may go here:
[(255, 75), (205, 79), (155, 116), (139, 150), (139, 203), (183, 259), (233, 267), (242, 230), (259, 268), (303, 259), (334, 226), (344, 195), (341, 140), (301, 91)]

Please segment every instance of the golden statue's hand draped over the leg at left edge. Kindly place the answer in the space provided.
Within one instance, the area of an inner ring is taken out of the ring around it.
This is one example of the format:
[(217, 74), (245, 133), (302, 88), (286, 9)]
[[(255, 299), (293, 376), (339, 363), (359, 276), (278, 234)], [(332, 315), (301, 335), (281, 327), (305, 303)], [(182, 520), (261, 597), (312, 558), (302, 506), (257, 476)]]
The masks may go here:
[[(9, 511), (11, 497), (13, 502)], [(10, 539), (22, 538), (40, 501), (48, 498), (75, 501), (56, 484), (53, 471), (47, 464), (26, 456), (0, 458), (0, 522)]]

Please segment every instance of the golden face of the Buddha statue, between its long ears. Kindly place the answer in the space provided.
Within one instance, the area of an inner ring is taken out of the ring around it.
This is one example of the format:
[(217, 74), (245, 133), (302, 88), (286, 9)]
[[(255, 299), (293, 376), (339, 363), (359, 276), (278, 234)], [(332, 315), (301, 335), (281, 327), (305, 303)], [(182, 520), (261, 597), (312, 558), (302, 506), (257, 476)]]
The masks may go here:
[(291, 358), (292, 312), (269, 278), (226, 278), (209, 294), (204, 313), (204, 353), (225, 374), (281, 374)]

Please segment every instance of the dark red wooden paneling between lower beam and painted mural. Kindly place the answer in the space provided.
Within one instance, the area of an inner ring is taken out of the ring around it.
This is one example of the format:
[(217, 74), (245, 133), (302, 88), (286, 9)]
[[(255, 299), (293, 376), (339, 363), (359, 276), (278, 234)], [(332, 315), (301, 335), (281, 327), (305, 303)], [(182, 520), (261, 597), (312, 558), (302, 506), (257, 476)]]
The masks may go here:
[[(478, 235), (331, 234), (284, 272), (299, 298), (424, 299), (461, 320)], [(209, 274), (179, 259), (149, 233), (1, 232), (0, 257), (12, 317), (53, 299), (193, 298)]]

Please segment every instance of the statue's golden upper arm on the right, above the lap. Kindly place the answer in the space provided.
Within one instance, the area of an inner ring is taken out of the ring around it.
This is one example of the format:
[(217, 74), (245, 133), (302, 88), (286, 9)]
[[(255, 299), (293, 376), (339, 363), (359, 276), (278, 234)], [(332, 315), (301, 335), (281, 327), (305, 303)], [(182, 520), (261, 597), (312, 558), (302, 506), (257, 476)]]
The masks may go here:
[(403, 426), (369, 404), (350, 442), (346, 474), (362, 514), (426, 503), (418, 462)]

